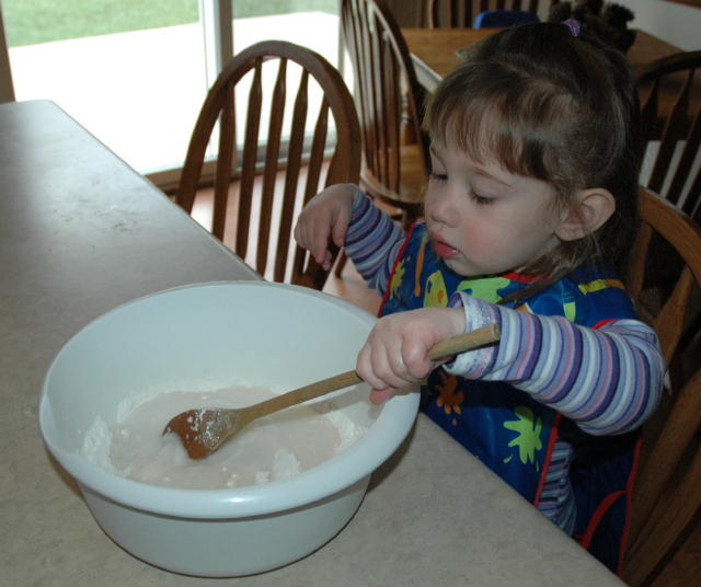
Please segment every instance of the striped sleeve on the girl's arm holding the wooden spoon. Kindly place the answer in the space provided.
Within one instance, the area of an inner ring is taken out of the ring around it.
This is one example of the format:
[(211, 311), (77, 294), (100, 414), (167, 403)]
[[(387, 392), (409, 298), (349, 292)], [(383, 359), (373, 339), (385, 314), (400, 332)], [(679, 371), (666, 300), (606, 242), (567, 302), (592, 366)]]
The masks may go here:
[(655, 410), (665, 361), (654, 331), (637, 320), (599, 329), (456, 295), (468, 330), (502, 329), (498, 345), (460, 355), (447, 369), (471, 379), (507, 381), (591, 435), (622, 434)]

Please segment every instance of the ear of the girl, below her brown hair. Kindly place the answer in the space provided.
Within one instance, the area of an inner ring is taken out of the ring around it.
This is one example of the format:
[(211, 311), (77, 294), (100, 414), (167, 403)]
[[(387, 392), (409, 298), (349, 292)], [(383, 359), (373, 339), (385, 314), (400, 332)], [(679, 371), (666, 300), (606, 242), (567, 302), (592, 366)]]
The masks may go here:
[(608, 189), (581, 189), (564, 211), (555, 234), (563, 241), (582, 239), (604, 225), (614, 210), (616, 199)]

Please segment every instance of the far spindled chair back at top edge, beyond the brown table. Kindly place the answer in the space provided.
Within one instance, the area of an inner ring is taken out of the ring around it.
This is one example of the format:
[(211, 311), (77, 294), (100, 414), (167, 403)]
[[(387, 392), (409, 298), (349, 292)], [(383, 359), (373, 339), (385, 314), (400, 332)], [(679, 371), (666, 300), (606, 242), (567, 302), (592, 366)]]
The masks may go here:
[[(544, 21), (556, 0), (426, 0), (425, 19), (429, 28), (456, 28), (476, 26), (474, 21), (481, 12), (493, 10), (528, 11)], [(519, 21), (520, 22), (520, 21)], [(505, 26), (503, 24), (482, 24)]]

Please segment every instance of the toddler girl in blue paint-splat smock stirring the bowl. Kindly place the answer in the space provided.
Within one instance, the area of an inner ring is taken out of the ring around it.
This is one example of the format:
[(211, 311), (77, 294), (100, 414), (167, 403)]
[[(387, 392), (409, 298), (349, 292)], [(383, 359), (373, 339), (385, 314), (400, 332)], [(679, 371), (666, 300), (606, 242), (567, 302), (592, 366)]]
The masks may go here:
[[(297, 240), (326, 266), (329, 240), (344, 245), (383, 296), (356, 366), (371, 400), (427, 378), (432, 419), (620, 569), (635, 430), (665, 371), (616, 273), (641, 152), (625, 59), (576, 23), (505, 30), (444, 80), (425, 128), (425, 222), (404, 234), (336, 185)], [(433, 370), (433, 344), (489, 323), (498, 344)]]

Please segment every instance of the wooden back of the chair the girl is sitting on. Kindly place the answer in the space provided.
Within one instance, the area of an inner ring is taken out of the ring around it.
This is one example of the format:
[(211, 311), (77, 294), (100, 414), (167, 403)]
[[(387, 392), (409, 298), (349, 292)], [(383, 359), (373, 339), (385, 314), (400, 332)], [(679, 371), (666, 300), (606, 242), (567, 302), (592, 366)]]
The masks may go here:
[(629, 289), (659, 336), (669, 371), (660, 407), (643, 426), (623, 571), (629, 585), (659, 569), (701, 507), (701, 229), (643, 187), (640, 216)]

